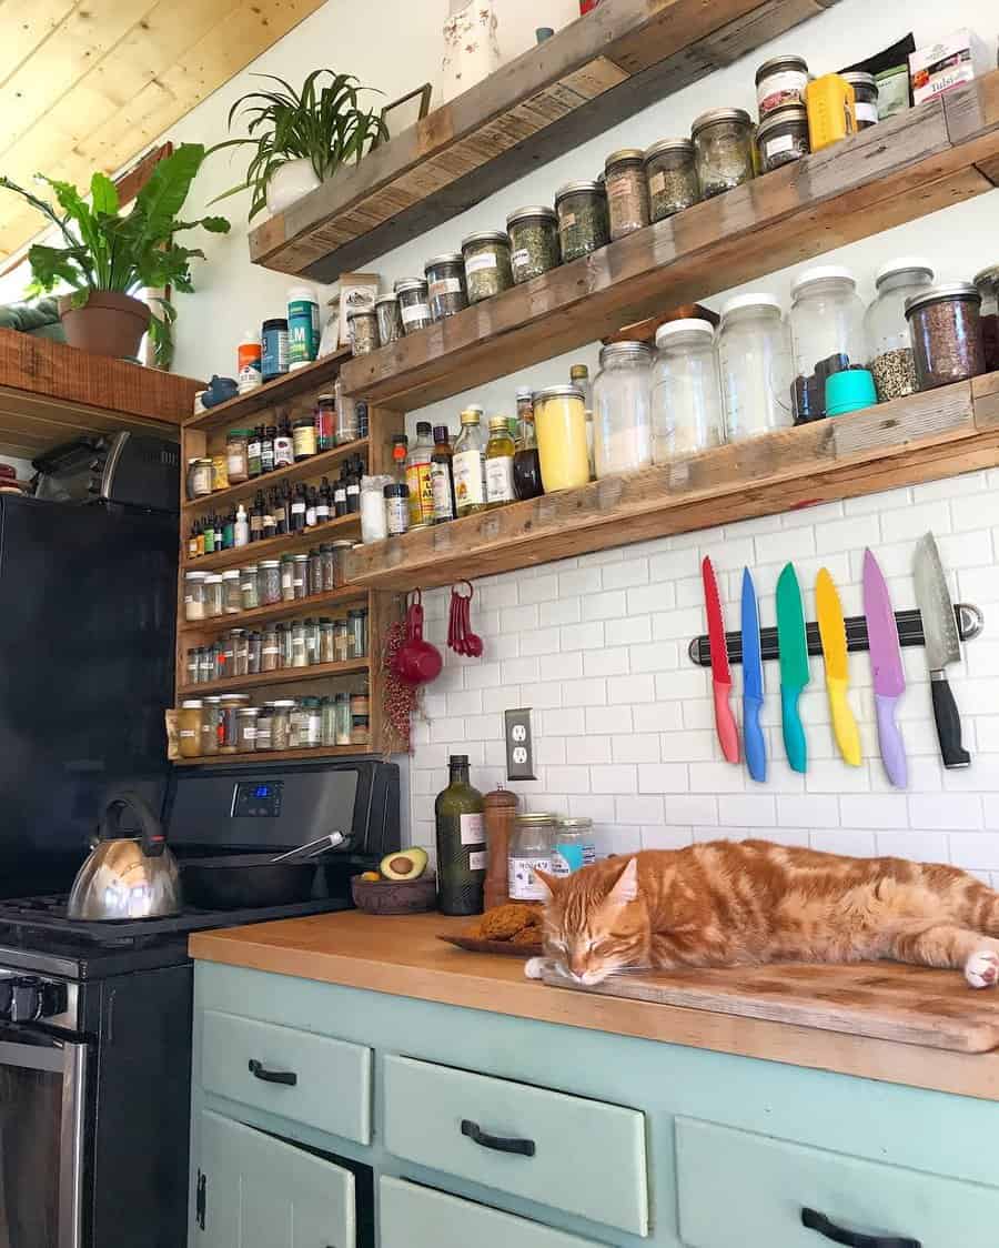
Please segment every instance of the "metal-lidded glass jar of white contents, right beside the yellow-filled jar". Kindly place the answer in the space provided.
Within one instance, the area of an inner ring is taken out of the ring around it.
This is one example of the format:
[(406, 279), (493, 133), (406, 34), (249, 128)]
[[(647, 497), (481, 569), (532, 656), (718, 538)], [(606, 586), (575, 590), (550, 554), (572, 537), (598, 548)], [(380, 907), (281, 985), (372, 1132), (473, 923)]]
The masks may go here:
[(652, 463), (652, 348), (611, 342), (594, 381), (594, 463), (597, 480)]

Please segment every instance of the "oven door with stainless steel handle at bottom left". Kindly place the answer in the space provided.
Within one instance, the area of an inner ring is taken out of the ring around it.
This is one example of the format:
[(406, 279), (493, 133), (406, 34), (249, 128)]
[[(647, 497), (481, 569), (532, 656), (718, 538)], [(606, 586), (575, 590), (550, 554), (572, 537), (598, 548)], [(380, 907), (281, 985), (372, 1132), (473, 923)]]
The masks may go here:
[(0, 1248), (82, 1248), (87, 1048), (0, 1023)]

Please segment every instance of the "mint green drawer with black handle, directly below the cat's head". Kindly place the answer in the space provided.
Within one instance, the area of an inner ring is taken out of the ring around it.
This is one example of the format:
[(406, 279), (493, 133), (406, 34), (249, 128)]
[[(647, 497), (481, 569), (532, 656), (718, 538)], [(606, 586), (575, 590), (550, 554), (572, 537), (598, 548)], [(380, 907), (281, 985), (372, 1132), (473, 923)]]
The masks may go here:
[[(530, 1156), (501, 1151), (511, 1141)], [(645, 1118), (635, 1109), (387, 1057), (385, 1147), (511, 1196), (649, 1233)]]

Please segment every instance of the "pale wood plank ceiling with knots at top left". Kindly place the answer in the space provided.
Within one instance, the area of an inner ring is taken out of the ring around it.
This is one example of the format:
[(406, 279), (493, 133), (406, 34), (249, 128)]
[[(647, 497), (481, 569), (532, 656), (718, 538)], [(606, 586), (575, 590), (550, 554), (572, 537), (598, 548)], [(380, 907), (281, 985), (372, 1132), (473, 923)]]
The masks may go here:
[[(322, 4), (0, 0), (0, 172), (82, 186), (122, 168)], [(37, 232), (5, 193), (0, 258)]]

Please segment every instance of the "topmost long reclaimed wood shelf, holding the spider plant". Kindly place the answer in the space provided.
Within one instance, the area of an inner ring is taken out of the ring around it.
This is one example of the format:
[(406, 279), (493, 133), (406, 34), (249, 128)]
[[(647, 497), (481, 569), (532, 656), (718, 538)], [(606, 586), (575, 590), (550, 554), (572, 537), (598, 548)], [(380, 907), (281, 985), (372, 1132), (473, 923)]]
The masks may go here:
[(258, 226), (251, 260), (332, 282), (833, 4), (604, 0)]

